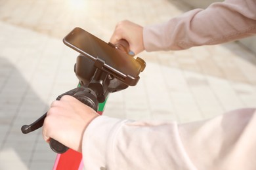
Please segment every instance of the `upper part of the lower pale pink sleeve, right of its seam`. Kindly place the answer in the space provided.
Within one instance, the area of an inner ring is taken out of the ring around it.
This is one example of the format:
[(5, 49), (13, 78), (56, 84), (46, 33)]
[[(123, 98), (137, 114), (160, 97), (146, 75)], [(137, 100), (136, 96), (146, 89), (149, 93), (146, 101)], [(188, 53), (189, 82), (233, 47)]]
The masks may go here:
[(256, 169), (256, 111), (233, 110), (211, 120), (183, 124), (184, 150), (198, 169)]

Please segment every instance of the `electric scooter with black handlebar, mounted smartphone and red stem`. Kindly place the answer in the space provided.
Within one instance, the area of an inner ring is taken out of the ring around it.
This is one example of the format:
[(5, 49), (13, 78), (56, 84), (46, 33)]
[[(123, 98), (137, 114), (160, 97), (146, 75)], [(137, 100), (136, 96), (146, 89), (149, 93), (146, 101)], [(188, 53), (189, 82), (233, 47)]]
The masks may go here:
[[(85, 105), (102, 114), (109, 93), (135, 86), (139, 74), (146, 67), (141, 58), (129, 55), (129, 44), (120, 40), (116, 44), (106, 43), (91, 33), (75, 27), (63, 39), (64, 44), (80, 53), (74, 71), (79, 86), (59, 95), (72, 95)], [(22, 133), (30, 133), (43, 126), (47, 112), (30, 125), (22, 126)], [(83, 169), (82, 155), (51, 139), (51, 149), (58, 153), (53, 169)]]

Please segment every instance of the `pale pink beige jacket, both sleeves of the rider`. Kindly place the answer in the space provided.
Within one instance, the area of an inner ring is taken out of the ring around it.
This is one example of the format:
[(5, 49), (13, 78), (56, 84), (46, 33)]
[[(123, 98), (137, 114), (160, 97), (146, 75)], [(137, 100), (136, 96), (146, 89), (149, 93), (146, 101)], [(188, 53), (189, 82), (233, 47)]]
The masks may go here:
[[(145, 27), (144, 46), (181, 50), (252, 35), (255, 1), (227, 0)], [(98, 116), (85, 130), (82, 150), (86, 170), (255, 170), (256, 110), (180, 125)]]

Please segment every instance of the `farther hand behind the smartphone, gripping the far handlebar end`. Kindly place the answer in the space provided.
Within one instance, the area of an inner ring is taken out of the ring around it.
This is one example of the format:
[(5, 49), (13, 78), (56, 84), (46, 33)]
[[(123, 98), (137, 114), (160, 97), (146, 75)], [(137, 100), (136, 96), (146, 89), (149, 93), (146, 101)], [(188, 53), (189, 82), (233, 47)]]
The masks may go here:
[(129, 42), (130, 50), (139, 54), (144, 50), (143, 27), (127, 20), (118, 22), (116, 29), (110, 39), (112, 44), (116, 44), (120, 39)]

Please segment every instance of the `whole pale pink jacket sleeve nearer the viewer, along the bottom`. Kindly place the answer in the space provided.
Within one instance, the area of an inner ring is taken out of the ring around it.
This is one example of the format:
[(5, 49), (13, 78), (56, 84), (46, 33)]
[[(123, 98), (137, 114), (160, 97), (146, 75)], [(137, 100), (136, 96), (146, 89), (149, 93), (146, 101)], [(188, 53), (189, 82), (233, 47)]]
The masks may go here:
[(255, 169), (253, 112), (181, 125), (98, 116), (83, 136), (85, 169)]

